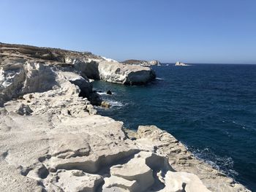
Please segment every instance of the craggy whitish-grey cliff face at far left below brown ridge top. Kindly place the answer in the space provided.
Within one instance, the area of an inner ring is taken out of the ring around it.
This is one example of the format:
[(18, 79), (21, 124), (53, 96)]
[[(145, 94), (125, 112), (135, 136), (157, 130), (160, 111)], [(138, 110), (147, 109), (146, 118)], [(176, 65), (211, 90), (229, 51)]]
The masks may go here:
[[(48, 91), (57, 86), (56, 72), (45, 63), (37, 61), (5, 61), (0, 66), (0, 106), (4, 101), (25, 93)], [(15, 63), (15, 65), (12, 65)]]

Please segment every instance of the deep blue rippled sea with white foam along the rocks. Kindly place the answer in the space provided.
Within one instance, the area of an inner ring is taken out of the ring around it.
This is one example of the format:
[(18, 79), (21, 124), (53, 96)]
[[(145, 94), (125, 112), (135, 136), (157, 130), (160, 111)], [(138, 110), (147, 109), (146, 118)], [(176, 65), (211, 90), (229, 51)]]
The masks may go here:
[(98, 113), (127, 128), (156, 125), (198, 158), (256, 191), (256, 65), (154, 66), (143, 86), (94, 82), (113, 107)]

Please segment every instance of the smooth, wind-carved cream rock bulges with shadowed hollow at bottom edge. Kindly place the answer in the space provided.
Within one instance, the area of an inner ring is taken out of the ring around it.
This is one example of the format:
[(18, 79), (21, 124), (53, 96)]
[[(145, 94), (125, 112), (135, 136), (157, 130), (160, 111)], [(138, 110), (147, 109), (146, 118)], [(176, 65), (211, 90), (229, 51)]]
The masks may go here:
[(103, 191), (115, 188), (118, 191), (195, 191), (208, 189), (195, 174), (173, 172), (165, 156), (140, 152), (127, 164), (110, 168), (110, 177), (105, 178)]

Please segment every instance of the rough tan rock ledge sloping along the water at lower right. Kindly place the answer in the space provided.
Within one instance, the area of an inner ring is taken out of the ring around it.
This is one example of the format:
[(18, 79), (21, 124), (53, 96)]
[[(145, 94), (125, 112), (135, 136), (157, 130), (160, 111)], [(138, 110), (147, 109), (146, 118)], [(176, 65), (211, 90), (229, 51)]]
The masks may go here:
[(178, 172), (196, 174), (210, 191), (249, 191), (244, 185), (236, 183), (233, 178), (214, 169), (211, 164), (197, 158), (173, 135), (157, 126), (139, 126), (138, 131), (130, 129), (125, 129), (125, 131), (130, 138), (146, 137), (149, 139), (152, 145), (157, 146), (157, 153), (167, 155), (173, 169)]

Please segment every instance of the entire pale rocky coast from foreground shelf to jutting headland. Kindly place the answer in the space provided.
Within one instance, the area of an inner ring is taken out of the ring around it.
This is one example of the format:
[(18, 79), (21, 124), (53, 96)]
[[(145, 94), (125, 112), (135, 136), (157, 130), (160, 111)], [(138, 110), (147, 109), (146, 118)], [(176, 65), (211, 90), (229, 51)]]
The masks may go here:
[(0, 43), (0, 191), (249, 191), (156, 126), (97, 115), (92, 80), (155, 77), (89, 52)]

